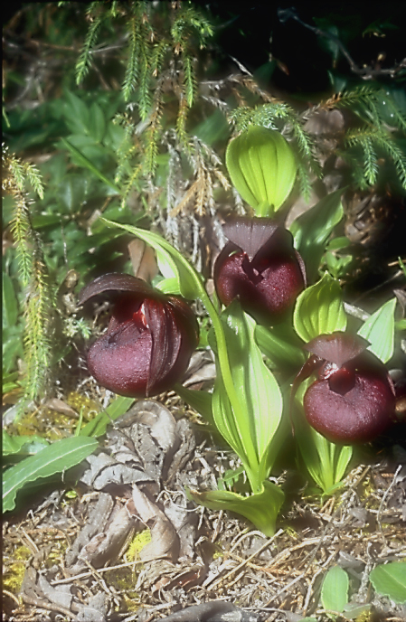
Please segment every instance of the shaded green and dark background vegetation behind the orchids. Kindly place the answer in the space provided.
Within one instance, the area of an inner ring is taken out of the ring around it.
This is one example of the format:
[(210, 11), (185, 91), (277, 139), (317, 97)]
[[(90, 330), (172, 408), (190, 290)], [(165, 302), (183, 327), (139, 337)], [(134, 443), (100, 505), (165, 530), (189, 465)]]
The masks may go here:
[[(401, 3), (371, 3), (368, 11), (362, 3), (14, 6), (4, 38), (5, 145), (8, 157), (36, 166), (45, 191), (35, 193), (28, 169), (14, 193), (6, 188), (5, 405), (21, 395), (21, 384), (36, 399), (46, 378), (68, 382), (70, 356), (80, 369), (78, 352), (91, 332), (74, 288), (133, 269), (129, 239), (107, 229), (100, 214), (162, 231), (211, 276), (219, 218), (242, 210), (222, 165), (233, 110), (275, 105), (272, 123), (285, 130), (296, 118), (303, 125), (323, 102), (343, 111), (320, 179), (305, 171), (307, 191), (318, 198), (332, 174), (336, 187), (347, 187), (341, 242), (320, 268), (370, 311), (401, 287), (404, 17)], [(339, 95), (353, 91), (348, 101)], [(278, 117), (287, 104), (291, 116)], [(304, 168), (314, 155), (310, 145)], [(29, 313), (35, 296), (36, 325)]]

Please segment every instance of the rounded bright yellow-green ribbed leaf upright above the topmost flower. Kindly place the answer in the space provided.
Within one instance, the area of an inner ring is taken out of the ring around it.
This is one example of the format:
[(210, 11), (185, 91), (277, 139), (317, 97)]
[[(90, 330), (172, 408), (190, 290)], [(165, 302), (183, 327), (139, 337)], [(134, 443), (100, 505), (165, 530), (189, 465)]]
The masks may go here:
[(279, 210), (295, 183), (295, 155), (275, 129), (250, 126), (231, 140), (225, 162), (232, 184), (258, 216)]

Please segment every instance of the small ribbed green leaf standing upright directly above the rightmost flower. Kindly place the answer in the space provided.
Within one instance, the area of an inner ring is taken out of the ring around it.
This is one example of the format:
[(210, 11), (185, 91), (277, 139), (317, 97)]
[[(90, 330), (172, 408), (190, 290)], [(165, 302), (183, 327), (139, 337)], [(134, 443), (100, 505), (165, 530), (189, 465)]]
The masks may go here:
[(293, 325), (297, 335), (306, 343), (318, 335), (345, 331), (347, 318), (343, 292), (335, 278), (326, 272), (316, 285), (307, 287), (297, 297)]

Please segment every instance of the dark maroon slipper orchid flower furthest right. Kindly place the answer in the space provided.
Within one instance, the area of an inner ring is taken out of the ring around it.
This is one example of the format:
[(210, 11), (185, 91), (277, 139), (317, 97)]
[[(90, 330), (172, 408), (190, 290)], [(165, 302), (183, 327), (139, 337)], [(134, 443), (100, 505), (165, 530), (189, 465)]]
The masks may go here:
[(312, 356), (294, 382), (317, 371), (303, 406), (308, 423), (335, 443), (365, 443), (379, 436), (394, 419), (395, 391), (385, 366), (366, 351), (359, 335), (320, 335), (305, 348)]

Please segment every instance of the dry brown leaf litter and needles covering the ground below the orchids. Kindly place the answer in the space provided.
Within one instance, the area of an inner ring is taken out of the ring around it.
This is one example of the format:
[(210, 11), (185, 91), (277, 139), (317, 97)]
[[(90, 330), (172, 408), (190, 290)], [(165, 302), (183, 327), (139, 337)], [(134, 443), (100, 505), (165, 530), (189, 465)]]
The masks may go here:
[(352, 607), (337, 619), (351, 619), (351, 611), (404, 619), (405, 606), (369, 580), (374, 568), (406, 557), (403, 448), (365, 455), (324, 504), (281, 470), (288, 504), (266, 538), (235, 514), (188, 500), (187, 487), (212, 489), (219, 473), (238, 467), (198, 420), (174, 393), (137, 401), (82, 463), (74, 498), (52, 490), (24, 517), (6, 516), (5, 580), (24, 547), (28, 558), (19, 593), (5, 581), (5, 619), (326, 620), (320, 590), (334, 566), (348, 574)]

